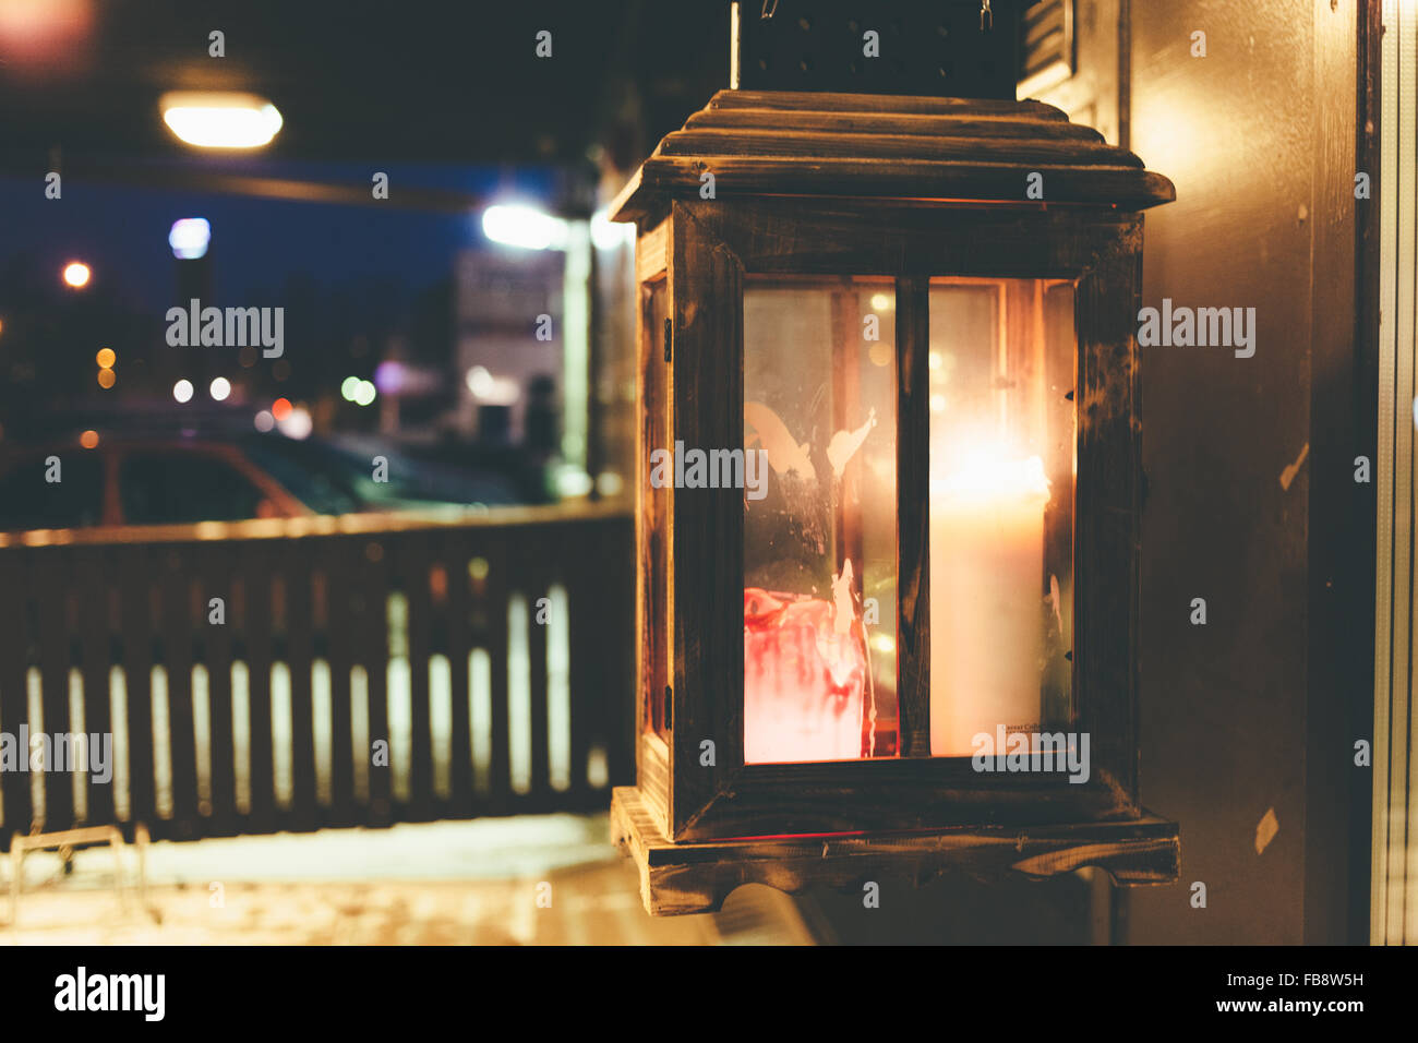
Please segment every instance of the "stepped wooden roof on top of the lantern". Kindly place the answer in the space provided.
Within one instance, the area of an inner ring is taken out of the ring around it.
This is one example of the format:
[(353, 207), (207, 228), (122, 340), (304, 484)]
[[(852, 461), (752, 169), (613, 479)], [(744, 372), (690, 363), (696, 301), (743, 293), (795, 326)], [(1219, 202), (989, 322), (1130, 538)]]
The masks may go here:
[[(700, 199), (706, 172), (713, 199), (1143, 210), (1177, 197), (1173, 183), (1132, 152), (1039, 101), (719, 91), (659, 142), (611, 204), (611, 220), (658, 220), (672, 199)], [(1031, 184), (1042, 194), (1031, 197)]]

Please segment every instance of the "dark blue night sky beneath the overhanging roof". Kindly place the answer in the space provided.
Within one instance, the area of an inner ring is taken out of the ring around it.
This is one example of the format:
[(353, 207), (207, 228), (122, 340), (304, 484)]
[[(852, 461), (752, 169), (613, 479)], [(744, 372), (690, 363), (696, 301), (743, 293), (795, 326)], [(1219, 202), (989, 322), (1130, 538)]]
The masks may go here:
[[(376, 167), (364, 163), (234, 162), (223, 170), (274, 177), (370, 184)], [(457, 189), (488, 197), (540, 200), (550, 177), (434, 166), (379, 165), (390, 175), (390, 194), (401, 187)], [(173, 254), (167, 231), (180, 217), (211, 223), (216, 304), (267, 305), (257, 299), (294, 275), (332, 287), (380, 278), (418, 291), (447, 278), (457, 251), (486, 244), (481, 214), (467, 217), (403, 207), (337, 206), (268, 199), (145, 190), (67, 180), (61, 200), (44, 197), (43, 179), (0, 177), (6, 228), (0, 264), (34, 257), (47, 271), (69, 260), (94, 270), (94, 288), (112, 289), (129, 307), (153, 312), (155, 324), (174, 304)], [(206, 304), (206, 302), (204, 302)], [(162, 329), (156, 326), (155, 329)]]

